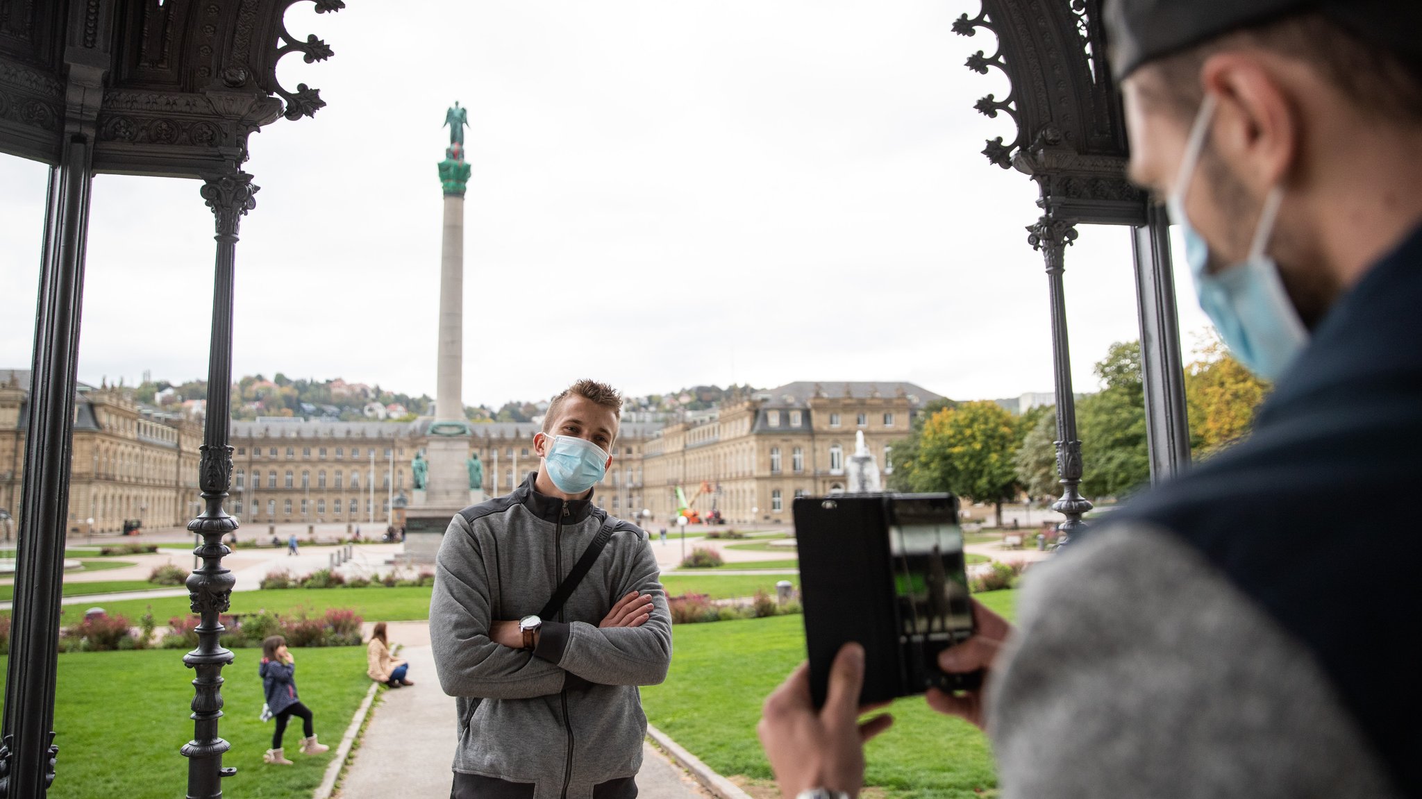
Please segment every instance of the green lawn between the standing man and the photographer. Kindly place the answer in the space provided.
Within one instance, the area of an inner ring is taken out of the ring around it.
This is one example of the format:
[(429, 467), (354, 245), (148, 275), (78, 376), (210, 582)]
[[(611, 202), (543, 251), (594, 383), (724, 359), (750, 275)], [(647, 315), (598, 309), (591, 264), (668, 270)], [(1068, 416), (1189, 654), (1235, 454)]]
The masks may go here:
[[(1011, 617), (1012, 591), (977, 594)], [(805, 658), (798, 616), (673, 627), (671, 672), (641, 690), (647, 718), (717, 772), (771, 779), (755, 738), (761, 702)], [(894, 704), (894, 726), (867, 751), (867, 783), (892, 798), (993, 796), (997, 776), (987, 736), (929, 709)]]

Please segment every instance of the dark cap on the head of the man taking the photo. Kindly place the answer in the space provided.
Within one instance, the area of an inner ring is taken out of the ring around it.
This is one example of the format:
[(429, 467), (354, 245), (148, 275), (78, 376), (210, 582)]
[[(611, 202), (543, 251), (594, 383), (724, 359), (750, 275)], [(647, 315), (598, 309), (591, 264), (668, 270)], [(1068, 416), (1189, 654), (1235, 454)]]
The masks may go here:
[(1369, 44), (1422, 61), (1422, 0), (1103, 0), (1116, 80), (1230, 31), (1320, 11)]

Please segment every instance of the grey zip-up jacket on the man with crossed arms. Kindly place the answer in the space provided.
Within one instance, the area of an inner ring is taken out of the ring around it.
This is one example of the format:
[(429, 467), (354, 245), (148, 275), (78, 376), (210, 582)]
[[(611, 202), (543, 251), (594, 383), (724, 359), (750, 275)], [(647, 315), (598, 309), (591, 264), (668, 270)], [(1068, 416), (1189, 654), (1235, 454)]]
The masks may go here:
[[(532, 783), (535, 799), (592, 799), (593, 788), (641, 768), (647, 717), (637, 685), (665, 680), (671, 614), (647, 535), (583, 500), (533, 490), (461, 510), (445, 532), (429, 600), (429, 638), (445, 694), (456, 698), (454, 771)], [(489, 640), (492, 621), (539, 613), (604, 523), (593, 569), (538, 650)], [(653, 597), (641, 627), (599, 628), (613, 603)]]

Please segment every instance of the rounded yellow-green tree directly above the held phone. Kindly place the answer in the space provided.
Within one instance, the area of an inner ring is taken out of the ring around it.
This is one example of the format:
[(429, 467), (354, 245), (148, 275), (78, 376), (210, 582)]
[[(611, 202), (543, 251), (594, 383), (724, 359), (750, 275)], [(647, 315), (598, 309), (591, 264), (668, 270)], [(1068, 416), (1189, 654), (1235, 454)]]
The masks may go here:
[(988, 400), (944, 408), (923, 424), (910, 488), (991, 502), (1001, 527), (1003, 502), (1018, 488), (1012, 456), (1022, 434), (1021, 421)]

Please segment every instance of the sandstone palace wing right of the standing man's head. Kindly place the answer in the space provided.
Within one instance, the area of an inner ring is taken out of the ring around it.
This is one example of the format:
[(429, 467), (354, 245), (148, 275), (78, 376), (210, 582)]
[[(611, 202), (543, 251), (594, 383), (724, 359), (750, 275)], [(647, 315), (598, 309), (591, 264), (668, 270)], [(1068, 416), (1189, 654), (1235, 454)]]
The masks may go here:
[(731, 523), (789, 522), (796, 496), (845, 490), (845, 466), (863, 431), (880, 469), (893, 473), (893, 442), (937, 394), (912, 382), (789, 382), (732, 395), (720, 408), (690, 414), (647, 442), (647, 509), (677, 512), (675, 489), (700, 512)]

